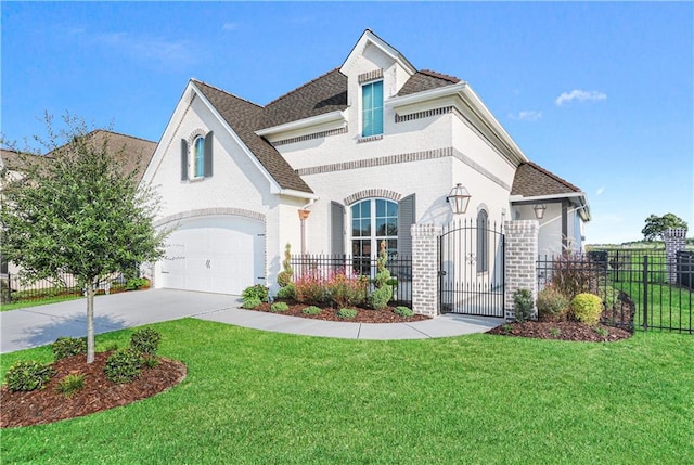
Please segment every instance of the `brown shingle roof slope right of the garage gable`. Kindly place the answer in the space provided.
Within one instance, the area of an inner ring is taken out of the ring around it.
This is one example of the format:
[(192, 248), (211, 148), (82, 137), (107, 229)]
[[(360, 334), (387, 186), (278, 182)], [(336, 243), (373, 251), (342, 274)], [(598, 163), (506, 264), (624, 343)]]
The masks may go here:
[(282, 189), (313, 192), (282, 155), (268, 141), (255, 133), (264, 119), (261, 106), (205, 82), (198, 80), (193, 82)]

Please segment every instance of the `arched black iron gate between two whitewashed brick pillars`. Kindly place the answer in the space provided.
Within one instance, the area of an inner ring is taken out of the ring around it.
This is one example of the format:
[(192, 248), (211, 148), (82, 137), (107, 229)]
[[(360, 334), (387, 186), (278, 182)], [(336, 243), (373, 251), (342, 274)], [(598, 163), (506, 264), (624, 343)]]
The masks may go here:
[(505, 314), (505, 249), (501, 224), (461, 220), (439, 237), (439, 313)]

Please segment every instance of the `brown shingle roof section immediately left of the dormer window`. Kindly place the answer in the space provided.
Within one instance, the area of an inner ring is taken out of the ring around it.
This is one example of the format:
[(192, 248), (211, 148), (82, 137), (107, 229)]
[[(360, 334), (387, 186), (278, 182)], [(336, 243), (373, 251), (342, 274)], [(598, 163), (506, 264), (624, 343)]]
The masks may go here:
[(271, 128), (347, 108), (347, 76), (333, 69), (265, 106), (256, 129)]

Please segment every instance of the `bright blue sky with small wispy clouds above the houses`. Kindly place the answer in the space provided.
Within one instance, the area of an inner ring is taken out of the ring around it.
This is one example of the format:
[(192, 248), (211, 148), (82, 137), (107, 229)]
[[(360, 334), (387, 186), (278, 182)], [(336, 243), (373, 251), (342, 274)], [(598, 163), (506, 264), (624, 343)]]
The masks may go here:
[[(44, 112), (158, 141), (192, 77), (258, 104), (339, 66), (365, 28), (472, 86), (534, 162), (582, 189), (589, 243), (694, 230), (694, 3), (7, 2), (5, 140)], [(693, 235), (692, 232), (689, 235)]]

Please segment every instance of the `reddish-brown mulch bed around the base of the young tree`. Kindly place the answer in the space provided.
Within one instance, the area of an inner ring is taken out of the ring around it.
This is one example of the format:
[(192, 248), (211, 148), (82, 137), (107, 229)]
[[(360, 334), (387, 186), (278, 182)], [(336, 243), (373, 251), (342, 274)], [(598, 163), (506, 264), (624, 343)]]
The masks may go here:
[[(43, 389), (11, 392), (0, 389), (0, 427), (43, 425), (127, 405), (176, 386), (185, 378), (182, 362), (158, 358), (153, 369), (143, 367), (132, 383), (115, 384), (106, 378), (104, 366), (112, 352), (100, 352), (93, 363), (87, 356), (75, 356), (53, 363), (56, 374)], [(85, 387), (72, 397), (56, 391), (57, 383), (68, 374), (85, 374)]]

